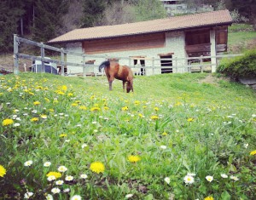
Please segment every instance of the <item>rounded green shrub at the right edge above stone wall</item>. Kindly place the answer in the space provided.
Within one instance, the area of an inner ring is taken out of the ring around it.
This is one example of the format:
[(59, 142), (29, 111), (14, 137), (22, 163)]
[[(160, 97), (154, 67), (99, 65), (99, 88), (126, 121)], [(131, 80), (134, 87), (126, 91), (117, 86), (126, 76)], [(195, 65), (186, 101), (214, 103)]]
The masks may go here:
[(237, 80), (238, 77), (256, 77), (256, 49), (241, 57), (221, 60), (218, 72)]

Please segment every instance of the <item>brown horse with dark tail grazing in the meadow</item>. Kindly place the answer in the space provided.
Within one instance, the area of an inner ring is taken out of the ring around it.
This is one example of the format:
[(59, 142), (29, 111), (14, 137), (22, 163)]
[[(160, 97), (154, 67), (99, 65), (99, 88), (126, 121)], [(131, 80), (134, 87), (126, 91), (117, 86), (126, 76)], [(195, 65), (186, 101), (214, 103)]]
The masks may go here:
[(126, 92), (133, 92), (133, 74), (129, 66), (121, 66), (117, 62), (113, 61), (104, 61), (99, 66), (99, 71), (102, 71), (102, 68), (105, 69), (105, 73), (108, 77), (109, 90), (112, 90), (113, 79), (119, 79), (123, 81), (123, 89), (125, 91), (126, 83)]

